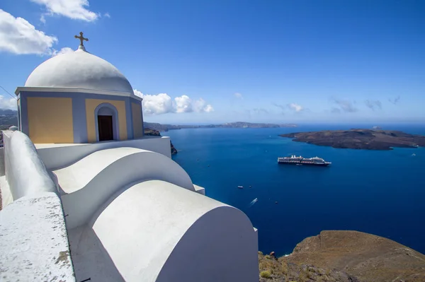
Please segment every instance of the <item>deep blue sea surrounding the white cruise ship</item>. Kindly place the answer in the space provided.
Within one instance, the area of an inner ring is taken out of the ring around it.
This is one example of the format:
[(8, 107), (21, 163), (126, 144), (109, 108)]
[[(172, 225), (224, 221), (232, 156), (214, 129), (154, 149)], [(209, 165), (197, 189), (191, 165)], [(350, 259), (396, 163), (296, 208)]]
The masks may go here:
[[(425, 148), (337, 149), (278, 136), (372, 125), (180, 129), (162, 135), (171, 137), (179, 150), (173, 159), (193, 183), (249, 216), (259, 230), (262, 252), (289, 254), (298, 242), (322, 230), (358, 230), (425, 254)], [(382, 128), (425, 135), (425, 125)], [(328, 168), (277, 164), (279, 156), (290, 154), (317, 155), (332, 164)], [(251, 206), (255, 198), (258, 201)]]

